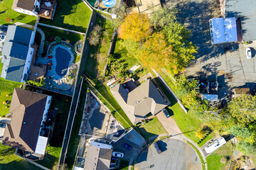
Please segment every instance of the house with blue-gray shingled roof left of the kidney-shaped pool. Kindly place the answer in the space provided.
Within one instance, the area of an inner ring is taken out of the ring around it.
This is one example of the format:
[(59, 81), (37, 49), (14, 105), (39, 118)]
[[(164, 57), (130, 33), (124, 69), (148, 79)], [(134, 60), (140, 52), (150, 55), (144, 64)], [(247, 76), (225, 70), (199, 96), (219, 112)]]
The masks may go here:
[(4, 64), (1, 77), (11, 81), (25, 82), (31, 67), (34, 48), (31, 47), (35, 33), (18, 26), (8, 26), (2, 50)]

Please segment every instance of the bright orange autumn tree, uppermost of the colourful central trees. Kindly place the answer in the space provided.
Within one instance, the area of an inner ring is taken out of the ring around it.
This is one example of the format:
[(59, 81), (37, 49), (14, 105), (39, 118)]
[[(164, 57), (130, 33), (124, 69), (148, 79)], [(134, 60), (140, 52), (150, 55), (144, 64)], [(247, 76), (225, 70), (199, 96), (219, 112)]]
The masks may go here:
[(151, 23), (149, 17), (143, 13), (129, 13), (118, 30), (119, 38), (135, 41), (145, 40), (151, 35)]

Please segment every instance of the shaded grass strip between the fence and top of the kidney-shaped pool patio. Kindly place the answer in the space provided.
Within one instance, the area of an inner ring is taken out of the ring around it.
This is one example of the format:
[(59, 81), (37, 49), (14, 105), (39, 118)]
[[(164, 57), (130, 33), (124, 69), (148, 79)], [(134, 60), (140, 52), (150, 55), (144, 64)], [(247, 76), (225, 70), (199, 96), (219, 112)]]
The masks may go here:
[[(85, 40), (85, 35), (81, 35), (81, 34), (78, 34), (78, 33), (68, 33), (67, 34), (64, 30), (58, 30), (58, 29), (55, 29), (55, 28), (48, 28), (48, 27), (45, 27), (45, 26), (38, 26), (38, 28), (43, 30), (43, 33), (46, 35), (46, 41), (49, 41), (49, 38), (52, 37), (52, 36), (53, 37), (58, 36), (58, 37), (62, 38), (63, 40), (70, 40), (71, 45), (75, 45), (75, 42), (77, 42), (78, 40), (82, 40), (82, 41)], [(36, 33), (37, 33), (36, 35), (38, 35), (38, 32), (36, 32)], [(38, 40), (37, 37), (35, 39)], [(45, 49), (45, 50), (47, 50), (47, 49)], [(75, 57), (74, 62), (80, 61), (80, 57), (81, 57), (80, 55), (75, 55), (74, 54), (74, 57)]]

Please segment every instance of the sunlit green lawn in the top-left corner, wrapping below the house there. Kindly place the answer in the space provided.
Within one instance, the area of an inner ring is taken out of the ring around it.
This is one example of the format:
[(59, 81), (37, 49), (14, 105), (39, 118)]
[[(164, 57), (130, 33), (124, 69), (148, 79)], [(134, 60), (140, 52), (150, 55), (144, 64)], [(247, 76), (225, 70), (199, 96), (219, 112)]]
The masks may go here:
[[(11, 9), (13, 4), (13, 0), (4, 0), (0, 1), (0, 24), (13, 24), (16, 22), (27, 23), (30, 25), (35, 25), (36, 16), (29, 16), (23, 13), (15, 12)], [(6, 17), (11, 18), (13, 20), (12, 23), (6, 22)]]

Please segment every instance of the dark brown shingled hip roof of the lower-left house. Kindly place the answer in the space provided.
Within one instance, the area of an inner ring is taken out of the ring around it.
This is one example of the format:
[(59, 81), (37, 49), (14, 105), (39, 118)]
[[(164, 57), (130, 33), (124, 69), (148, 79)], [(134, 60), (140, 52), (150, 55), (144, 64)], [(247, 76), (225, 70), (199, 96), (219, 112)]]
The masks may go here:
[(4, 145), (35, 152), (46, 107), (46, 95), (14, 89), (11, 98), (11, 123), (4, 131)]

